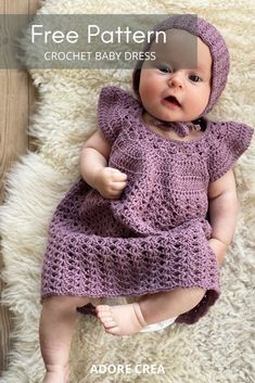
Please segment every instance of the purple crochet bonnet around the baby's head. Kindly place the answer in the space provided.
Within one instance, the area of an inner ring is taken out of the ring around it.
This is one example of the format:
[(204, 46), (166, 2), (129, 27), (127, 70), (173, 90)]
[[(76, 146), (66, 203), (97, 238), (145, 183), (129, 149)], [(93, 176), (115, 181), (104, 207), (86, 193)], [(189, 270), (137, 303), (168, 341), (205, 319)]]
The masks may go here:
[[(171, 28), (184, 29), (192, 35), (200, 37), (209, 48), (213, 59), (212, 65), (212, 89), (209, 101), (203, 115), (212, 111), (219, 95), (227, 84), (229, 73), (229, 52), (222, 36), (219, 31), (205, 20), (195, 15), (183, 14), (174, 15), (157, 24), (154, 31), (168, 30)], [(149, 52), (153, 41), (146, 44), (144, 52)], [(132, 75), (132, 87), (137, 95), (139, 95), (140, 72), (143, 60), (137, 62)]]

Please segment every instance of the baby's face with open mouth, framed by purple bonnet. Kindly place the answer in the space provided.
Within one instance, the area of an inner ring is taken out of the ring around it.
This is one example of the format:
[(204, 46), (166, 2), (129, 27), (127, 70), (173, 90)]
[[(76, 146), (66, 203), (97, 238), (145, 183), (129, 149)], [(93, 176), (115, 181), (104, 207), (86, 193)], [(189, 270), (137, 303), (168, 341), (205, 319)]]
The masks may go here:
[(140, 98), (145, 111), (158, 119), (191, 122), (203, 113), (209, 100), (209, 48), (186, 30), (169, 29), (166, 34), (167, 44), (151, 46), (156, 60), (142, 66)]

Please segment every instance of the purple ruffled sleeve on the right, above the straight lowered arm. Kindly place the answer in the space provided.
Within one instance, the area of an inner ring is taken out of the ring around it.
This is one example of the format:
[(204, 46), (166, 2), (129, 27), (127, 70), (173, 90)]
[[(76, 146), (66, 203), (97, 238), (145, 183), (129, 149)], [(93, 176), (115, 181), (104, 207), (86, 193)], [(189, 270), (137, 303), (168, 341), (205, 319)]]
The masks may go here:
[(216, 181), (232, 168), (248, 148), (254, 130), (234, 122), (215, 123), (209, 140), (209, 181)]

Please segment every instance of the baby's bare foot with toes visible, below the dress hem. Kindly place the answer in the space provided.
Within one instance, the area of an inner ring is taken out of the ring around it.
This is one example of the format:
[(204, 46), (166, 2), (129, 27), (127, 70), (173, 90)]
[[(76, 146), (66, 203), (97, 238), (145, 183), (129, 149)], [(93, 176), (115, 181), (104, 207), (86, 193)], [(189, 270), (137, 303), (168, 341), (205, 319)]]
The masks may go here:
[(105, 331), (113, 335), (136, 334), (146, 325), (138, 303), (119, 306), (99, 305), (95, 312)]

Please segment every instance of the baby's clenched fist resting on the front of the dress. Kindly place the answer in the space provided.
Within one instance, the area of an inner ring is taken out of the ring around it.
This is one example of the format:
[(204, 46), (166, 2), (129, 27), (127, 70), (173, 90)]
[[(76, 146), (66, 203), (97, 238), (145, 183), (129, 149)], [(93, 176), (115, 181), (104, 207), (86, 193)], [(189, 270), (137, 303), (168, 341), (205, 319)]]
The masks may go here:
[(127, 186), (127, 176), (113, 167), (101, 168), (94, 177), (94, 188), (105, 199), (117, 200)]

